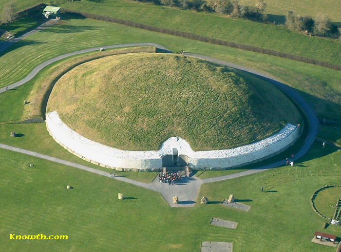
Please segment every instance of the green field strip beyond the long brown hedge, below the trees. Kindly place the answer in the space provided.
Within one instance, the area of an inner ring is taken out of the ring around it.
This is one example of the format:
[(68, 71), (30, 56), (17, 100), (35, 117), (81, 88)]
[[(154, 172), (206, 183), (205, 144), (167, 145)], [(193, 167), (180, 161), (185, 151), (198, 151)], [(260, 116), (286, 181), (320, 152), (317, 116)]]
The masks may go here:
[(278, 25), (123, 0), (84, 0), (62, 6), (340, 64), (338, 40), (309, 37)]

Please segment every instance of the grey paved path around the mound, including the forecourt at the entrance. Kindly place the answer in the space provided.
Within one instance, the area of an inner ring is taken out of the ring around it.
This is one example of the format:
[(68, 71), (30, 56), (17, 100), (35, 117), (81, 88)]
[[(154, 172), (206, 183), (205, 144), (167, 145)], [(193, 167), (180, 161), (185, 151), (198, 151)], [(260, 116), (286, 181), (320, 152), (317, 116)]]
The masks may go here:
[[(164, 52), (171, 53), (171, 51), (168, 50), (166, 47), (159, 45), (159, 44), (156, 44), (156, 43), (129, 43), (129, 44), (116, 44), (116, 45), (93, 47), (93, 48), (89, 48), (89, 49), (84, 49), (84, 50), (60, 55), (56, 58), (45, 61), (45, 62), (39, 64), (37, 67), (35, 67), (24, 79), (20, 80), (19, 82), (14, 83), (14, 84), (8, 85), (8, 89), (15, 88), (15, 87), (18, 87), (22, 84), (25, 84), (26, 82), (31, 80), (34, 76), (36, 76), (38, 74), (38, 72), (42, 68), (44, 68), (45, 66), (47, 66), (51, 63), (57, 62), (61, 59), (73, 56), (73, 55), (97, 51), (100, 48), (111, 49), (111, 48), (119, 48), (119, 47), (146, 46), (146, 45), (156, 46), (158, 49), (161, 49)], [(253, 69), (245, 67), (245, 66), (241, 66), (241, 65), (234, 64), (234, 63), (221, 61), (221, 60), (217, 60), (217, 59), (210, 58), (210, 57), (203, 56), (203, 55), (190, 54), (190, 53), (183, 53), (183, 54), (193, 56), (193, 57), (197, 57), (197, 58), (202, 58), (202, 59), (205, 59), (205, 60), (208, 60), (211, 62), (227, 65), (227, 66), (230, 66), (230, 67), (242, 70), (242, 71), (246, 71), (246, 72), (255, 74), (261, 78), (266, 79), (270, 83), (272, 83), (275, 86), (277, 86), (278, 88), (280, 88), (287, 96), (289, 96), (292, 100), (294, 100), (298, 105), (301, 106), (301, 108), (302, 108), (302, 110), (306, 116), (306, 119), (308, 121), (308, 134), (307, 134), (307, 137), (303, 143), (303, 146), (296, 153), (295, 160), (301, 158), (308, 151), (308, 149), (313, 144), (315, 137), (317, 135), (319, 122), (318, 122), (318, 118), (316, 116), (315, 111), (304, 101), (304, 99), (298, 94), (298, 92), (295, 91), (294, 88), (279, 82), (278, 80), (276, 80), (275, 78), (273, 78), (270, 75), (267, 75), (267, 74), (262, 73), (262, 72), (257, 71), (257, 70), (253, 70)], [(0, 88), (0, 93), (5, 92), (6, 90), (7, 90), (6, 87)], [(21, 152), (24, 154), (44, 158), (44, 159), (47, 159), (47, 160), (50, 160), (53, 162), (57, 162), (60, 164), (64, 164), (64, 165), (72, 166), (75, 168), (80, 168), (83, 170), (94, 172), (94, 173), (99, 174), (99, 175), (110, 176), (109, 172), (97, 170), (94, 168), (85, 167), (82, 165), (78, 165), (76, 163), (72, 163), (72, 162), (68, 162), (65, 160), (58, 159), (58, 158), (50, 157), (50, 156), (43, 155), (43, 154), (40, 154), (37, 152), (33, 152), (33, 151), (25, 150), (25, 149), (20, 149), (20, 148), (16, 148), (16, 147), (11, 147), (11, 146), (7, 146), (7, 145), (2, 145), (2, 144), (0, 144), (0, 148), (5, 148), (5, 149)], [(162, 196), (170, 204), (171, 207), (192, 207), (195, 204), (195, 200), (198, 196), (201, 184), (217, 182), (217, 181), (232, 179), (232, 178), (241, 177), (241, 176), (246, 176), (249, 174), (265, 171), (267, 169), (275, 168), (275, 167), (279, 167), (279, 166), (283, 166), (283, 165), (285, 165), (285, 160), (281, 160), (281, 161), (278, 161), (278, 162), (275, 162), (275, 163), (272, 163), (272, 164), (269, 164), (267, 166), (260, 167), (257, 169), (250, 169), (250, 170), (246, 170), (246, 171), (242, 171), (242, 172), (238, 172), (238, 173), (234, 173), (234, 174), (230, 174), (230, 175), (226, 175), (226, 176), (220, 176), (220, 177), (214, 177), (214, 178), (208, 178), (208, 179), (197, 179), (195, 176), (193, 176), (190, 178), (186, 178), (186, 180), (182, 181), (182, 183), (180, 183), (178, 185), (173, 185), (173, 186), (158, 183), (158, 178), (155, 178), (155, 180), (151, 184), (137, 182), (137, 181), (134, 181), (131, 179), (123, 178), (123, 177), (114, 177), (114, 179), (124, 181), (124, 182), (130, 183), (130, 184), (133, 184), (133, 185), (136, 185), (139, 187), (143, 187), (146, 189), (152, 189), (154, 191), (158, 191), (162, 194)], [(180, 204), (175, 205), (172, 203), (172, 197), (174, 195), (178, 196)]]

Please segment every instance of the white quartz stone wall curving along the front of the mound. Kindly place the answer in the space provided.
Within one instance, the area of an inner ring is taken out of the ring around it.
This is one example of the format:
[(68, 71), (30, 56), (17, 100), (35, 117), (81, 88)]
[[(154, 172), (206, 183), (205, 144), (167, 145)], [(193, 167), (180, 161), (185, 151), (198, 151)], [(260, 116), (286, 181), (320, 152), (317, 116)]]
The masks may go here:
[(173, 148), (177, 148), (178, 155), (187, 155), (189, 166), (194, 169), (231, 168), (273, 156), (292, 145), (300, 136), (298, 126), (287, 124), (264, 140), (232, 149), (193, 151), (186, 140), (170, 137), (160, 150), (128, 151), (79, 135), (61, 121), (57, 111), (46, 113), (46, 128), (57, 143), (75, 155), (96, 165), (125, 170), (158, 170), (162, 167), (162, 156), (171, 155)]

